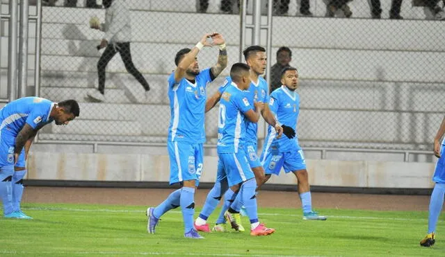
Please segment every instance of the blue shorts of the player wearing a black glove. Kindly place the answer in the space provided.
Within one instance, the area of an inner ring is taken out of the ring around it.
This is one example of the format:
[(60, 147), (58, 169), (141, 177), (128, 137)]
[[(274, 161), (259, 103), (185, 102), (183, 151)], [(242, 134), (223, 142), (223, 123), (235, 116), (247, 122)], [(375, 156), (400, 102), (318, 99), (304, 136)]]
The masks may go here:
[(286, 173), (306, 169), (303, 150), (295, 152), (266, 152), (266, 157), (264, 158), (263, 156), (261, 159), (264, 159), (263, 167), (266, 175), (279, 175), (281, 168), (284, 168)]

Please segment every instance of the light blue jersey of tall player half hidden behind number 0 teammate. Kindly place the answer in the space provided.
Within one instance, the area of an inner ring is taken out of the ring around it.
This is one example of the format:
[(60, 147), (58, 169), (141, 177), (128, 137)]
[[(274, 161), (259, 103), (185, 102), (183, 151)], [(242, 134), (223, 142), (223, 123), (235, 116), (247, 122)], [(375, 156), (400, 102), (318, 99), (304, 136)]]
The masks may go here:
[[(232, 83), (232, 79), (227, 77), (225, 83), (218, 89), (221, 94), (227, 87)], [(247, 98), (249, 100), (250, 105), (254, 109), (254, 102), (268, 103), (269, 95), (268, 95), (268, 85), (264, 78), (259, 77), (257, 84), (254, 82), (250, 83), (249, 89), (246, 91)], [(246, 143), (254, 143), (257, 144), (257, 131), (258, 131), (258, 123), (252, 123), (250, 121), (247, 122), (245, 141)]]

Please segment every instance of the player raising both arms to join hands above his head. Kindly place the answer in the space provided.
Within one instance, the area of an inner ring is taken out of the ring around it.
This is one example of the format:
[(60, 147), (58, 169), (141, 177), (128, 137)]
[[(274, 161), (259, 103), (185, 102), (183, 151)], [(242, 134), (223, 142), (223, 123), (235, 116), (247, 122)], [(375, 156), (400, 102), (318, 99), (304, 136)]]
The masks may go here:
[[(219, 46), (218, 62), (200, 71), (197, 54), (204, 46), (211, 46), (207, 38)], [(180, 183), (156, 208), (147, 209), (147, 231), (155, 233), (163, 213), (181, 206), (186, 238), (202, 238), (193, 228), (195, 188), (201, 177), (205, 142), (204, 115), (207, 83), (213, 81), (227, 67), (225, 39), (219, 33), (205, 34), (192, 49), (184, 48), (175, 57), (177, 68), (168, 78), (171, 119), (168, 128), (170, 156), (170, 184)]]

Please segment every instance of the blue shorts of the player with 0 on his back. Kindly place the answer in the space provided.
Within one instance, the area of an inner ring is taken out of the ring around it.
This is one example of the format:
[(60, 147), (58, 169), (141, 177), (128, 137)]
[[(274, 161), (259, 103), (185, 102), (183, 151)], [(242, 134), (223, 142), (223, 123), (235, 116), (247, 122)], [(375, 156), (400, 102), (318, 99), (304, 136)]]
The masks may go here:
[[(227, 176), (229, 186), (234, 186), (255, 177), (244, 151), (218, 153), (218, 157), (220, 158), (221, 168)], [(218, 172), (219, 170), (220, 166), (218, 165)]]

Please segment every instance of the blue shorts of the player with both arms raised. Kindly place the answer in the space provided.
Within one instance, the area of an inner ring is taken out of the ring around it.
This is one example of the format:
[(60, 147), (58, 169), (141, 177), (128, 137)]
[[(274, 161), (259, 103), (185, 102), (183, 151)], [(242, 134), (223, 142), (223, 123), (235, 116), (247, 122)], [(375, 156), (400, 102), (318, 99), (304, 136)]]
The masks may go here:
[(170, 157), (170, 185), (195, 179), (197, 186), (201, 179), (204, 156), (202, 143), (169, 141), (167, 147)]

